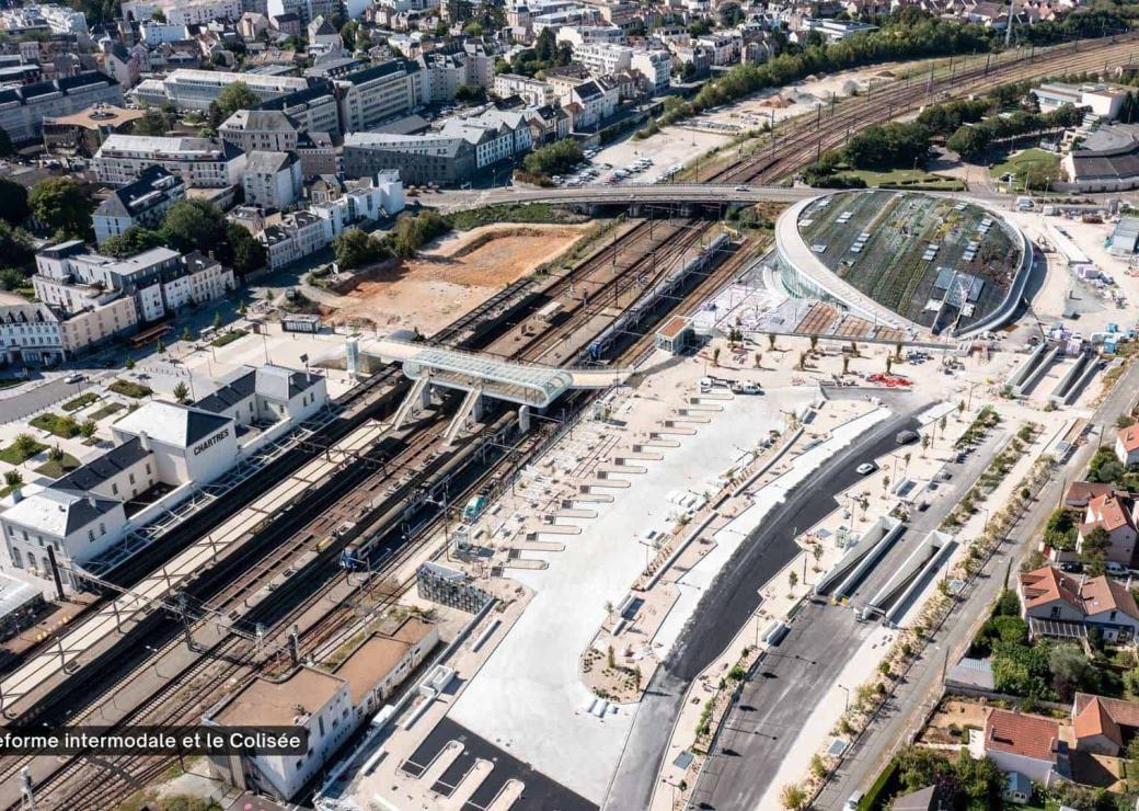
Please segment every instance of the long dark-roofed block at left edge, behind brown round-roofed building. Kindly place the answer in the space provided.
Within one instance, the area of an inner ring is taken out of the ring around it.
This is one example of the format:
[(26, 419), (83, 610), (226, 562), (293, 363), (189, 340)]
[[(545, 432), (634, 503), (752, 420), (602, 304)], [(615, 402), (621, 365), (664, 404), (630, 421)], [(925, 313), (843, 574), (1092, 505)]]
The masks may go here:
[(99, 104), (122, 106), (123, 88), (98, 71), (3, 88), (0, 89), (0, 129), (14, 144), (26, 144), (42, 136), (44, 118), (72, 115)]

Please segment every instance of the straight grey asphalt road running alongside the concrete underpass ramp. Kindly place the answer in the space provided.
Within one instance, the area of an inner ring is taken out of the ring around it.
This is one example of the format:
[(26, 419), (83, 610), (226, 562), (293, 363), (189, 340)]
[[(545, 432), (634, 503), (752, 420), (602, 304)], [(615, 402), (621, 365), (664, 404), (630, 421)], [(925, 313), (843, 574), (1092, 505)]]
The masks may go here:
[[(1005, 436), (1006, 432), (993, 432), (961, 465), (944, 466), (952, 478), (924, 497), (929, 500), (929, 509), (912, 513), (906, 532), (854, 590), (853, 608), (805, 605), (792, 623), (790, 633), (764, 657), (755, 679), (744, 687), (739, 702), (731, 708), (716, 751), (694, 792), (696, 808), (744, 811), (759, 804), (797, 730), (818, 706), (819, 696), (830, 689), (876, 626), (857, 622), (854, 608), (866, 605), (913, 548), (937, 527), (984, 470)], [(898, 475), (892, 474), (891, 478), (898, 481)]]

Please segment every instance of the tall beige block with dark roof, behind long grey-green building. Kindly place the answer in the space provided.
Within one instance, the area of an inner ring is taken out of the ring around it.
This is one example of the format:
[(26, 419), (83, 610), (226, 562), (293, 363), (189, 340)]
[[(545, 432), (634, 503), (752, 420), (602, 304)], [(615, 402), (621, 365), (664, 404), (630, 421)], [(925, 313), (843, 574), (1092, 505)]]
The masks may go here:
[(349, 74), (336, 80), (336, 87), (343, 132), (369, 130), (425, 101), (424, 73), (409, 59), (392, 59)]

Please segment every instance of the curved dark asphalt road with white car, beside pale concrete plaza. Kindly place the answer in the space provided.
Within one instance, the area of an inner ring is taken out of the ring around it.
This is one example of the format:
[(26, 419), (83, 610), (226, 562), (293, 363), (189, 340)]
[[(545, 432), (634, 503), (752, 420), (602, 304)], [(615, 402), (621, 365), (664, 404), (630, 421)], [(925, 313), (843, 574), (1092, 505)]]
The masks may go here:
[[(648, 808), (680, 703), (691, 683), (728, 646), (759, 607), (759, 589), (798, 554), (795, 530), (805, 530), (837, 507), (835, 495), (861, 478), (854, 468), (893, 450), (894, 436), (917, 426), (918, 409), (880, 423), (797, 486), (760, 524), (704, 593), (693, 620), (649, 681), (604, 808)], [(821, 497), (821, 498), (820, 498)]]

